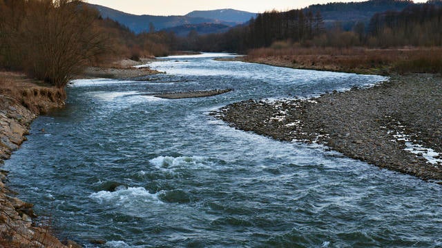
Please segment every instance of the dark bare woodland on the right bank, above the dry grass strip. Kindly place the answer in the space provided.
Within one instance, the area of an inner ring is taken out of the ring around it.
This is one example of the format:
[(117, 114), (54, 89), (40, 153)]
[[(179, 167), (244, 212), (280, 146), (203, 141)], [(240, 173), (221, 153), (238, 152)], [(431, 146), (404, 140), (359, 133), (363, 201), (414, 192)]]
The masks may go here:
[[(374, 14), (367, 24), (356, 23), (352, 30), (345, 30), (340, 23), (327, 27), (323, 12), (319, 9), (346, 10), (363, 6), (362, 10), (385, 6), (401, 8), (401, 11), (387, 11)], [(387, 4), (388, 3), (388, 4)], [(435, 4), (437, 3), (437, 4)], [(374, 0), (358, 3), (331, 3), (329, 5), (290, 10), (287, 12), (264, 12), (251, 19), (247, 25), (233, 28), (224, 34), (198, 36), (193, 34), (180, 48), (207, 51), (247, 52), (254, 48), (285, 48), (292, 44), (304, 47), (349, 48), (368, 46), (385, 48), (398, 45), (432, 46), (441, 45), (442, 23), (439, 1), (427, 4), (413, 4), (410, 1)], [(318, 9), (317, 12), (311, 10)], [(191, 39), (190, 39), (191, 38)]]

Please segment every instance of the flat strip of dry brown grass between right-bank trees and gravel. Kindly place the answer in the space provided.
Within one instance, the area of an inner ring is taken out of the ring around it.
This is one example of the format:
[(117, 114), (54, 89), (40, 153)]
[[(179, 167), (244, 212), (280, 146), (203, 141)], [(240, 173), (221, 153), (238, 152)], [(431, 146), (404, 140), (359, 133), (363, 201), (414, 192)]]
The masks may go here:
[(247, 61), (291, 68), (369, 74), (442, 72), (442, 48), (261, 48)]

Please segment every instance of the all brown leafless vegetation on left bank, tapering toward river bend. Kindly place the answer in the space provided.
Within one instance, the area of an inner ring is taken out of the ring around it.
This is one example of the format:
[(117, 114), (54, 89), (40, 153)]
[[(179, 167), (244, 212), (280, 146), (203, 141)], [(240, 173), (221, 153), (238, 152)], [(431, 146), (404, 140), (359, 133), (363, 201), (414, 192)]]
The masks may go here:
[(0, 68), (60, 88), (89, 65), (164, 56), (174, 37), (136, 35), (81, 1), (0, 0)]

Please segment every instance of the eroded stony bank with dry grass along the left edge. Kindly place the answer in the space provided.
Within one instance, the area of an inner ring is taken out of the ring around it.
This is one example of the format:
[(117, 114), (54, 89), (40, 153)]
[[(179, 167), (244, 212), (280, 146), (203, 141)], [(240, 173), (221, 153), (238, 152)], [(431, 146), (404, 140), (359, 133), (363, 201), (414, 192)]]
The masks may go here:
[[(26, 141), (33, 119), (64, 106), (65, 99), (63, 89), (37, 84), (17, 72), (0, 72), (0, 163)], [(7, 175), (8, 172), (0, 170), (0, 245), (66, 247), (50, 234), (49, 223), (35, 223), (33, 205), (8, 189)]]

